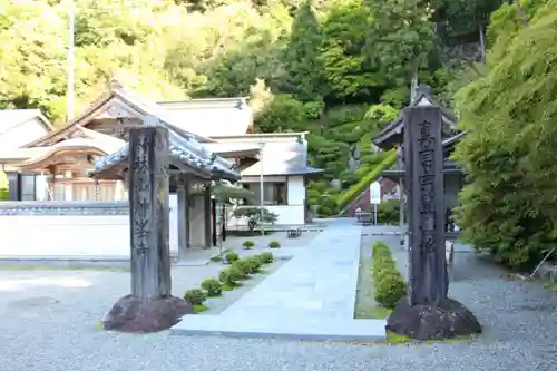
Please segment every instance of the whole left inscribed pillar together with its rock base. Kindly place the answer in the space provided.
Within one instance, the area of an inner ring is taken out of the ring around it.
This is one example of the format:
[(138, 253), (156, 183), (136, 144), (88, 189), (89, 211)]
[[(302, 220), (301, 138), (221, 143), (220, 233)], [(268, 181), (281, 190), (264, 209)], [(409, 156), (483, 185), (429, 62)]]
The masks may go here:
[(168, 130), (147, 118), (129, 131), (129, 224), (131, 294), (104, 321), (105, 330), (154, 332), (169, 329), (190, 306), (172, 296)]

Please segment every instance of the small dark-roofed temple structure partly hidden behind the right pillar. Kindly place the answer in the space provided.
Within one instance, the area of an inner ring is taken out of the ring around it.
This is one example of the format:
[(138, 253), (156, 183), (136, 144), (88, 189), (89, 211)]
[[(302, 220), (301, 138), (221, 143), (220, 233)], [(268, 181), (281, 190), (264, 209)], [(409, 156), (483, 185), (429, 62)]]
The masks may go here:
[[(443, 174), (444, 174), (444, 207), (447, 215), (450, 211), (458, 206), (458, 193), (463, 186), (463, 174), (458, 166), (449, 160), (449, 156), (455, 149), (458, 140), (466, 135), (466, 131), (459, 131), (455, 127), (457, 125), (457, 117), (447, 108), (442, 107), (432, 96), (431, 88), (427, 85), (419, 85), (416, 90), (413, 100), (409, 107), (417, 106), (434, 106), (441, 110), (441, 118), (443, 123), (442, 137), (443, 137)], [(399, 183), (404, 194), (404, 163), (402, 160), (402, 145), (404, 140), (404, 123), (402, 114), (392, 123), (390, 123), (383, 130), (381, 130), (374, 138), (373, 144), (383, 150), (397, 148), (399, 159), (395, 168), (388, 169), (382, 173), (382, 176)], [(402, 197), (404, 201), (405, 197)], [(405, 224), (404, 216), (405, 207), (403, 204), (400, 207), (400, 224)]]

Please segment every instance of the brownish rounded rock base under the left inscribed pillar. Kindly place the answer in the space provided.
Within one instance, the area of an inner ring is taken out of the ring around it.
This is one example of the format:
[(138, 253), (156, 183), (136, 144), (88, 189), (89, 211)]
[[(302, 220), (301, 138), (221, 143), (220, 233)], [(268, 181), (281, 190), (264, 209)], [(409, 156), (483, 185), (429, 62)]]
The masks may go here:
[(102, 329), (128, 333), (158, 332), (170, 329), (182, 316), (192, 313), (192, 305), (176, 296), (147, 300), (126, 295), (102, 319)]

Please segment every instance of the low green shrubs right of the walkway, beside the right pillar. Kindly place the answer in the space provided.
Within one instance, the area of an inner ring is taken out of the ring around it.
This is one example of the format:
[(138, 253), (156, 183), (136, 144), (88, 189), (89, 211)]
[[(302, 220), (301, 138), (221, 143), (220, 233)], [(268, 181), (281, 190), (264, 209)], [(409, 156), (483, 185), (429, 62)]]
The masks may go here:
[(394, 307), (407, 294), (407, 284), (397, 269), (391, 251), (384, 242), (378, 241), (372, 247), (373, 295), (375, 302), (384, 307)]

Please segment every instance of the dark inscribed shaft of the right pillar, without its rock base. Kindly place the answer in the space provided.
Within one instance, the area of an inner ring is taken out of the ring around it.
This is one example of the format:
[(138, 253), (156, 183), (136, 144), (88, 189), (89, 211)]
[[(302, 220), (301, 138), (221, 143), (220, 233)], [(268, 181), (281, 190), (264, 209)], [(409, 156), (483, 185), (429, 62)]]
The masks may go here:
[(447, 297), (441, 125), (439, 108), (404, 109), (411, 305)]

